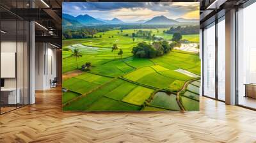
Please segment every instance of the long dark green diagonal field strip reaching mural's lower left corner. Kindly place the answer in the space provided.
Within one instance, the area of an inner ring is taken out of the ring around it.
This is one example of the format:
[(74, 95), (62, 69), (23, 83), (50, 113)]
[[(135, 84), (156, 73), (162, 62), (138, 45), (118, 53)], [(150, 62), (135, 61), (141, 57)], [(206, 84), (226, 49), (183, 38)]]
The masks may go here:
[(113, 89), (115, 89), (123, 83), (124, 80), (116, 79), (113, 82), (110, 82), (109, 84), (101, 86), (96, 91), (93, 91), (92, 93), (87, 94), (82, 98), (79, 98), (79, 100), (71, 102), (70, 104), (63, 107), (63, 110), (88, 110), (90, 105), (92, 105), (94, 102), (97, 102), (97, 100), (102, 98), (105, 94), (108, 94), (110, 91), (112, 91)]

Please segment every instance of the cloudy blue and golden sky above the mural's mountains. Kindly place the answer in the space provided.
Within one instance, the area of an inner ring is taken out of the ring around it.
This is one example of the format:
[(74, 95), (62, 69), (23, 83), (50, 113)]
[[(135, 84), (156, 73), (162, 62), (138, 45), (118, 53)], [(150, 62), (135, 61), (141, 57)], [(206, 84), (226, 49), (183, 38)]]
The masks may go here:
[(199, 19), (198, 2), (64, 2), (63, 13), (88, 14), (95, 18), (118, 18), (124, 22), (164, 15), (170, 19)]

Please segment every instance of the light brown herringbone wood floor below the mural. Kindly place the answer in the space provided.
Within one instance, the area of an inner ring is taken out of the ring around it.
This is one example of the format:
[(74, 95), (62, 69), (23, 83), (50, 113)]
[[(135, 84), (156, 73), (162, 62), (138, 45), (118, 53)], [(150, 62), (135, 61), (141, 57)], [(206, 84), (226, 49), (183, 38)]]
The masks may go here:
[(0, 116), (0, 142), (256, 142), (256, 112), (200, 98), (200, 112), (61, 111), (61, 91)]

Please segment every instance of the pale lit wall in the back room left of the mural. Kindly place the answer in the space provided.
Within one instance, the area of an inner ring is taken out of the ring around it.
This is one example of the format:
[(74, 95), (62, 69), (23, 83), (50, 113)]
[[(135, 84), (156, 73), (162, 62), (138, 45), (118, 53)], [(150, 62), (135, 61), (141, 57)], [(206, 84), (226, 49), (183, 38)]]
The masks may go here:
[(35, 89), (49, 89), (50, 80), (56, 77), (56, 49), (49, 43), (36, 43), (35, 47)]

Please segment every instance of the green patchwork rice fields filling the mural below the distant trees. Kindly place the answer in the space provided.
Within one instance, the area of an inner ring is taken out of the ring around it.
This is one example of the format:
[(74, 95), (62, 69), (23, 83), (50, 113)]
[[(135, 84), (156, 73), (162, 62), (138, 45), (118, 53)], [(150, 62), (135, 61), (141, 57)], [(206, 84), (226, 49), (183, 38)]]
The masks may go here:
[[(165, 40), (172, 38), (163, 33), (164, 29), (159, 29), (159, 33), (156, 29), (150, 30)], [(86, 62), (92, 64), (90, 71), (63, 81), (63, 87), (68, 90), (63, 93), (63, 110), (180, 110), (178, 102), (186, 110), (198, 109), (200, 80), (188, 84), (181, 91), (179, 100), (176, 95), (186, 82), (200, 78), (198, 55), (173, 50), (154, 59), (136, 58), (132, 56), (132, 47), (141, 41), (150, 41), (143, 38), (132, 41), (131, 37), (125, 36), (134, 33), (133, 29), (124, 30), (122, 34), (117, 32), (95, 34), (102, 38), (63, 41), (63, 47), (77, 48), (83, 55), (76, 61), (72, 52), (63, 51), (63, 73), (77, 70), (77, 65), (81, 67)], [(195, 42), (198, 38), (196, 35), (182, 37)], [(111, 52), (114, 43), (123, 50), (122, 58), (117, 55), (118, 50)]]

